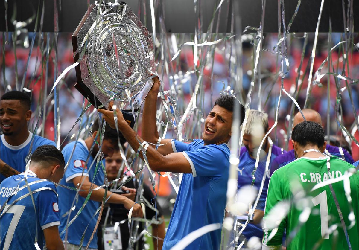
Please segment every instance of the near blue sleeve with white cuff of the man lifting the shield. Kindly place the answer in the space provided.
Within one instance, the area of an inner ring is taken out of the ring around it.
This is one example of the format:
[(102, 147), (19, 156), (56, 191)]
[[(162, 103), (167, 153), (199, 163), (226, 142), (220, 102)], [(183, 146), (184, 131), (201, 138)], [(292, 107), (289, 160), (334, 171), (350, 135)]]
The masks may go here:
[(219, 147), (218, 145), (211, 144), (200, 147), (192, 152), (182, 152), (188, 162), (190, 162), (193, 177), (220, 177), (223, 171), (228, 171), (228, 156)]

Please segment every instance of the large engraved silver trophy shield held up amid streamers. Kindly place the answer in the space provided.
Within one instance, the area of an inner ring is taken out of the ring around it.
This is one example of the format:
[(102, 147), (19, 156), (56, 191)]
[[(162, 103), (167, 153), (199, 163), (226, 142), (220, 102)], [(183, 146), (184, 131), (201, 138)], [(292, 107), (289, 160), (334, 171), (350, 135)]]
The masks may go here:
[[(123, 2), (91, 4), (72, 36), (77, 83), (96, 108), (138, 110), (155, 72), (153, 37)], [(105, 107), (106, 108), (106, 107)]]

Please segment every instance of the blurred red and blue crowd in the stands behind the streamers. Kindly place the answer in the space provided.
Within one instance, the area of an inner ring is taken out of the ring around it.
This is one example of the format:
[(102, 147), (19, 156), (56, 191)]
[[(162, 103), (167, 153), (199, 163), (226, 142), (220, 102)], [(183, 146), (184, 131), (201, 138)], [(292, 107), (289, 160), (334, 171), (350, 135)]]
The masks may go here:
[[(3, 33), (4, 34), (4, 33)], [(53, 86), (55, 77), (55, 50), (53, 48), (53, 34), (48, 33), (39, 39), (38, 34), (35, 37), (35, 45), (31, 51), (30, 59), (28, 61), (30, 47), (27, 45), (24, 47), (22, 41), (17, 41), (16, 50), (13, 47), (11, 41), (11, 33), (9, 33), (9, 42), (4, 44), (4, 39), (6, 38), (1, 36), (1, 95), (5, 93), (6, 89), (16, 90), (16, 83), (18, 86), (21, 86), (22, 81), (24, 81), (24, 87), (32, 91), (32, 110), (35, 111), (38, 108), (41, 108), (44, 102), (44, 96), (46, 97)], [(29, 33), (29, 41), (32, 41), (34, 33)], [(182, 36), (182, 35), (178, 35)], [(185, 38), (190, 41), (190, 35), (183, 35)], [(296, 78), (299, 74), (299, 85), (301, 90), (298, 93), (296, 98), (300, 107), (303, 107), (304, 101), (306, 99), (306, 89), (308, 84), (308, 70), (310, 59), (310, 53), (312, 50), (314, 34), (308, 34), (308, 43), (306, 48), (304, 48), (304, 59), (302, 62), (302, 67), (300, 72), (298, 72), (298, 67), (302, 58), (303, 43), (304, 38), (297, 38), (297, 34), (290, 36), (288, 39), (288, 58), (290, 64), (290, 71), (284, 79), (284, 88), (290, 93), (294, 94)], [(316, 57), (314, 60), (313, 67), (313, 76), (314, 72), (318, 69), (321, 63), (327, 58), (328, 51), (330, 47), (333, 47), (336, 43), (341, 41), (343, 34), (333, 33), (331, 36), (332, 43), (328, 46), (328, 34), (320, 34), (317, 41), (317, 51)], [(254, 68), (254, 59), (253, 59), (253, 48), (254, 46), (250, 43), (252, 35), (243, 35), (243, 56), (242, 56), (242, 67), (243, 67), (243, 93), (244, 98), (247, 96), (247, 93), (251, 87), (251, 82), (253, 81), (253, 68)], [(170, 37), (168, 37), (170, 39)], [(183, 39), (183, 38), (182, 38)], [(48, 41), (49, 40), (49, 41)], [(180, 39), (178, 39), (180, 40)], [(39, 44), (41, 41), (41, 44)], [(263, 48), (272, 51), (273, 46), (278, 41), (277, 34), (265, 34)], [(358, 45), (359, 37), (354, 38), (354, 44)], [(30, 43), (31, 44), (31, 43)], [(211, 104), (213, 101), (220, 95), (220, 91), (224, 90), (228, 85), (230, 88), (233, 87), (233, 77), (228, 77), (230, 72), (229, 62), (232, 58), (229, 58), (229, 46), (228, 41), (220, 42), (216, 44), (214, 57), (207, 60), (203, 72), (200, 74), (203, 75), (203, 89), (204, 89), (204, 102), (202, 113), (204, 115), (208, 114), (211, 109)], [(179, 46), (180, 44), (178, 44)], [(204, 52), (200, 50), (199, 53)], [(347, 65), (345, 66), (345, 75), (349, 76), (351, 79), (359, 79), (359, 53), (354, 47), (351, 46), (351, 53), (348, 54)], [(175, 53), (175, 52), (173, 52)], [(182, 91), (183, 98), (178, 98), (178, 109), (185, 109), (188, 105), (188, 102), (192, 96), (194, 86), (197, 82), (197, 74), (194, 71), (194, 54), (191, 46), (185, 46), (182, 48), (179, 59), (176, 59), (176, 63), (172, 64), (170, 67), (170, 75), (167, 75), (166, 72), (163, 72), (163, 79), (165, 90), (169, 88), (170, 84), (173, 84), (177, 79), (177, 88)], [(158, 65), (159, 75), (162, 75), (161, 70), (163, 69), (164, 61), (169, 61), (170, 58), (155, 58)], [(213, 59), (213, 64), (212, 64)], [(330, 69), (328, 69), (328, 63), (325, 64), (322, 69), (322, 74), (327, 72), (339, 72), (342, 73), (342, 67), (344, 65), (345, 58), (343, 57), (340, 49), (335, 49), (331, 52), (331, 62), (329, 63)], [(28, 63), (28, 66), (27, 66)], [(58, 36), (57, 42), (57, 76), (61, 74), (67, 66), (73, 64), (73, 48), (71, 44), (71, 34), (69, 33), (60, 33)], [(173, 63), (173, 62), (172, 62)], [(277, 72), (282, 71), (280, 57), (275, 53), (269, 51), (261, 52), (260, 59), (260, 69), (261, 69), (261, 94), (258, 95), (258, 80), (255, 80), (256, 84), (252, 89), (251, 95), (251, 109), (258, 109), (258, 103), (261, 103), (261, 108), (268, 113), (269, 123), (272, 125), (275, 121), (275, 112), (278, 105), (279, 91), (280, 91), (280, 79), (281, 74), (276, 75)], [(212, 67), (213, 66), (213, 67)], [(197, 65), (197, 69), (199, 65)], [(17, 73), (15, 73), (17, 72)], [(306, 74), (304, 74), (306, 72)], [(213, 74), (213, 75), (212, 75)], [(25, 76), (25, 79), (24, 79)], [(47, 82), (45, 82), (47, 80)], [(328, 88), (327, 84), (330, 81), (330, 131), (327, 131), (327, 110), (328, 110)], [(77, 130), (77, 126), (73, 129), (70, 136), (67, 136), (70, 129), (76, 122), (76, 119), (79, 118), (82, 111), (83, 98), (81, 94), (74, 89), (73, 85), (76, 82), (75, 70), (70, 70), (63, 80), (60, 82), (59, 88), (59, 107), (60, 107), (60, 117), (61, 117), (61, 145), (62, 147), (71, 138), (71, 135)], [(178, 83), (179, 82), (179, 83)], [(345, 81), (338, 79), (340, 89), (346, 86)], [(313, 86), (311, 93), (309, 94), (309, 108), (317, 110), (323, 117), (323, 127), (328, 135), (342, 135), (341, 129), (337, 125), (336, 117), (339, 119), (340, 123), (344, 125), (348, 131), (351, 131), (353, 128), (354, 120), (358, 118), (359, 110), (359, 88), (358, 84), (348, 83), (346, 89), (342, 89), (340, 95), (338, 96), (338, 88), (335, 83), (334, 76), (324, 75), (321, 79), (322, 87), (315, 85)], [(211, 88), (212, 86), (212, 88)], [(351, 96), (353, 98), (354, 107), (350, 101), (349, 89), (351, 90)], [(46, 91), (46, 93), (45, 93)], [(260, 99), (258, 99), (260, 96)], [(211, 98), (212, 97), (212, 98)], [(295, 97), (295, 96), (294, 96)], [(338, 99), (339, 98), (339, 99)], [(248, 101), (248, 100), (247, 100)], [(335, 105), (340, 104), (341, 108), (337, 107), (337, 110), (341, 110), (342, 117), (339, 112), (335, 112)], [(39, 120), (40, 126), (37, 129), (37, 133), (42, 134), (50, 140), (54, 140), (54, 117), (53, 117), (53, 105), (54, 102), (50, 100), (46, 103), (46, 121), (42, 121), (42, 118)], [(281, 147), (286, 147), (286, 137), (288, 121), (290, 114), (290, 109), (292, 107), (292, 100), (286, 95), (282, 95), (280, 100), (280, 109), (278, 115), (278, 125), (274, 132), (272, 132), (272, 138), (274, 138), (276, 144)], [(293, 112), (296, 112), (295, 108)], [(38, 117), (35, 113), (32, 126), (38, 122)], [(91, 110), (89, 111), (91, 112)], [(45, 125), (43, 125), (45, 124)], [(66, 137), (67, 136), (67, 137)], [(171, 136), (171, 133), (168, 133), (168, 136)], [(356, 137), (358, 137), (358, 132), (356, 132)], [(290, 144), (290, 143), (289, 143)], [(351, 143), (353, 147), (353, 156), (359, 155), (358, 147), (354, 146), (354, 143)], [(289, 145), (291, 149), (291, 145)], [(354, 154), (355, 153), (355, 154)], [(358, 157), (356, 157), (358, 158)]]

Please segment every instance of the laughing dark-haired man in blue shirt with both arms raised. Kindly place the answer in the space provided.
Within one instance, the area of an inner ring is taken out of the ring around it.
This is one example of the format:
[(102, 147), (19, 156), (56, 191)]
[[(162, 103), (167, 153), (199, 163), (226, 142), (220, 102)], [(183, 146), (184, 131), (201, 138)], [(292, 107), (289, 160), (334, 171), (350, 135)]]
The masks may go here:
[[(160, 81), (154, 84), (146, 97), (142, 116), (142, 138), (131, 129), (117, 109), (118, 128), (131, 147), (137, 150), (139, 141), (163, 146), (155, 150), (151, 145), (146, 150), (149, 166), (153, 171), (183, 173), (180, 189), (174, 204), (162, 249), (171, 249), (191, 232), (212, 224), (222, 225), (226, 204), (229, 175), (229, 141), (232, 132), (232, 96), (221, 96), (214, 104), (204, 123), (202, 140), (191, 143), (159, 138), (156, 124), (157, 96)], [(98, 110), (106, 122), (115, 128), (113, 111)], [(241, 105), (244, 119), (244, 108)], [(172, 141), (172, 142), (171, 142)], [(139, 155), (142, 156), (142, 153)], [(189, 243), (186, 249), (219, 249), (221, 231), (211, 231)]]

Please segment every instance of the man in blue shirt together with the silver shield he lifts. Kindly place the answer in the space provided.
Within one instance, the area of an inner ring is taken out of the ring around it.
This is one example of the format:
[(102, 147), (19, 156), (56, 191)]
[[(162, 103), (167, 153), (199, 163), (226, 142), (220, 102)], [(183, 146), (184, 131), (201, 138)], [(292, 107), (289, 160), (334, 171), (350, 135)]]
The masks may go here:
[[(105, 14), (99, 18), (98, 11)], [(238, 101), (229, 95), (216, 100), (206, 118), (202, 140), (184, 143), (162, 139), (163, 145), (156, 150), (160, 81), (157, 76), (153, 80), (148, 77), (156, 71), (151, 33), (122, 2), (106, 8), (91, 5), (72, 41), (74, 59), (79, 62), (75, 88), (103, 114), (112, 129), (118, 128), (135, 151), (142, 143), (153, 171), (184, 174), (163, 249), (170, 249), (206, 225), (222, 225), (229, 175), (227, 142), (232, 135), (234, 102)], [(133, 112), (144, 100), (141, 138), (132, 130)], [(108, 101), (116, 104), (117, 124), (112, 104), (106, 107), (108, 110), (102, 109)], [(240, 107), (242, 123), (244, 107)], [(143, 152), (139, 156), (143, 159)], [(187, 241), (187, 249), (219, 249), (220, 233), (220, 229), (212, 230)]]

